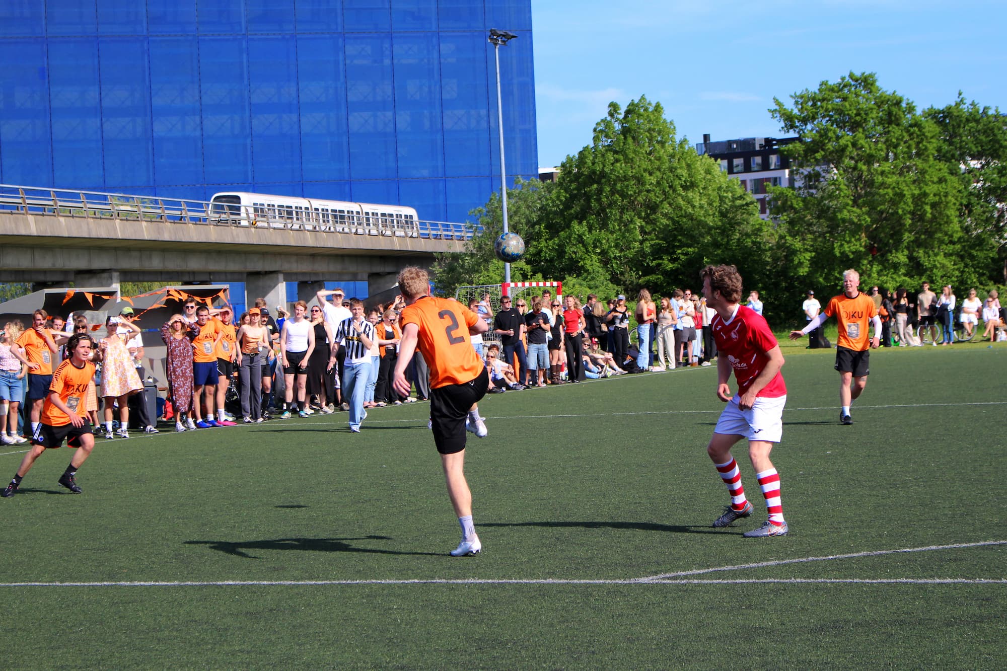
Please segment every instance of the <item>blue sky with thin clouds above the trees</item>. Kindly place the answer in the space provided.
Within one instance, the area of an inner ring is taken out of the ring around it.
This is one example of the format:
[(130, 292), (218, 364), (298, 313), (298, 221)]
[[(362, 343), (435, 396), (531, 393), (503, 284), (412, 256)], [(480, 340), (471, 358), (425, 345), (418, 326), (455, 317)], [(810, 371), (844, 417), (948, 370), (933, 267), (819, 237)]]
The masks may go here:
[(660, 102), (679, 137), (782, 135), (773, 97), (856, 72), (919, 109), (1007, 112), (1004, 0), (533, 0), (539, 165), (591, 141), (609, 101)]

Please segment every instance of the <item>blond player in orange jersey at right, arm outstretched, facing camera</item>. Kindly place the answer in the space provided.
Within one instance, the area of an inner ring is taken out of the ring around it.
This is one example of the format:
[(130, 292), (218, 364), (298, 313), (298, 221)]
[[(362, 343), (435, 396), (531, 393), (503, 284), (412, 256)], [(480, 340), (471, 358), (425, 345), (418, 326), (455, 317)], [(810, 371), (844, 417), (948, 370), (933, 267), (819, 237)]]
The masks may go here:
[[(826, 319), (836, 315), (839, 321), (839, 341), (836, 343), (836, 370), (839, 371), (839, 401), (842, 409), (839, 421), (852, 424), (850, 405), (864, 392), (867, 386), (870, 352), (881, 343), (881, 317), (874, 301), (861, 293), (860, 273), (847, 270), (843, 273), (843, 293), (829, 301), (824, 312), (808, 322), (802, 330), (792, 330), (790, 340), (796, 341), (809, 331), (818, 328)], [(867, 338), (867, 322), (874, 326), (874, 336)]]

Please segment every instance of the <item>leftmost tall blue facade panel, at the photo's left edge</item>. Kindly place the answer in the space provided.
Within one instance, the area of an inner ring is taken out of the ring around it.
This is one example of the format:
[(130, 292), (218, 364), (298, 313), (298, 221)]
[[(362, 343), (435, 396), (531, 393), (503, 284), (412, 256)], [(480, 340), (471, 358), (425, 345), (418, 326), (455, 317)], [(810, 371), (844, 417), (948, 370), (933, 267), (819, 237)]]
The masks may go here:
[(40, 39), (0, 40), (0, 180), (51, 186), (48, 71)]

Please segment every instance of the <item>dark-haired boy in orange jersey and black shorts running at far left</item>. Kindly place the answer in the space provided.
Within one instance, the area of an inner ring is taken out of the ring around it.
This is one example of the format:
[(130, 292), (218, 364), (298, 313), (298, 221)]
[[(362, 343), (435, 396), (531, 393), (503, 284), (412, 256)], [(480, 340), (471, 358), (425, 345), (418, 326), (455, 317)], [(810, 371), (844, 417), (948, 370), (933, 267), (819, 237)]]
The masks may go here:
[(68, 438), (66, 444), (79, 449), (59, 478), (59, 484), (74, 494), (81, 493), (75, 476), (95, 446), (91, 422), (86, 419), (88, 385), (95, 377), (95, 365), (89, 361), (94, 341), (87, 333), (79, 333), (69, 339), (66, 350), (70, 353), (70, 357), (59, 364), (52, 374), (48, 396), (42, 405), (42, 421), (35, 427), (34, 435), (31, 437), (31, 449), (21, 459), (21, 465), (14, 479), (10, 481), (7, 489), (0, 492), (0, 496), (4, 498), (14, 496), (21, 485), (21, 479), (31, 469), (35, 459), (46, 449), (56, 449), (61, 446), (66, 438)]

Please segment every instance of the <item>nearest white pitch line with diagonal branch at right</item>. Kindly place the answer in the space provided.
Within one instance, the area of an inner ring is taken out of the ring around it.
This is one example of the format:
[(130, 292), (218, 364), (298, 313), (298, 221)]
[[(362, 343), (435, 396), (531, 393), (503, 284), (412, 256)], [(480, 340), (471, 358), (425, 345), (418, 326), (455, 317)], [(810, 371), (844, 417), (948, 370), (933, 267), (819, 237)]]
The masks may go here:
[(564, 579), (564, 578), (412, 578), (412, 579), (363, 579), (363, 580), (178, 580), (178, 581), (107, 581), (107, 582), (0, 582), (0, 587), (270, 587), (270, 586), (315, 586), (315, 585), (405, 585), (405, 584), (1007, 584), (1007, 578), (733, 578), (695, 579), (687, 575), (698, 575), (714, 571), (742, 570), (781, 566), (810, 561), (874, 557), (901, 552), (927, 552), (989, 545), (1007, 545), (1007, 540), (980, 541), (977, 543), (956, 543), (954, 545), (928, 545), (897, 550), (873, 550), (851, 554), (835, 554), (824, 557), (803, 557), (781, 559), (752, 564), (701, 568), (676, 573), (662, 573), (641, 578), (622, 579)]

